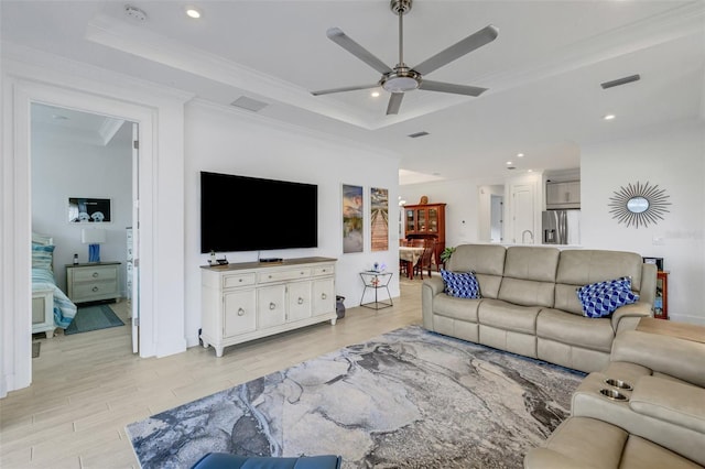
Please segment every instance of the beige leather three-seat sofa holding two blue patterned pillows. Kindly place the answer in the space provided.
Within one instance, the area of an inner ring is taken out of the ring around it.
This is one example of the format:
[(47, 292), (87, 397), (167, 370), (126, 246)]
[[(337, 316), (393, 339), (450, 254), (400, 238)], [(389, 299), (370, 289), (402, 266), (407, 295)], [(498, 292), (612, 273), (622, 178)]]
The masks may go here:
[[(440, 275), (424, 280), (424, 328), (575, 370), (604, 370), (615, 336), (652, 315), (657, 269), (633, 252), (462, 244), (446, 269), (474, 271), (481, 298), (447, 295)], [(639, 302), (584, 317), (576, 288), (621, 276)]]

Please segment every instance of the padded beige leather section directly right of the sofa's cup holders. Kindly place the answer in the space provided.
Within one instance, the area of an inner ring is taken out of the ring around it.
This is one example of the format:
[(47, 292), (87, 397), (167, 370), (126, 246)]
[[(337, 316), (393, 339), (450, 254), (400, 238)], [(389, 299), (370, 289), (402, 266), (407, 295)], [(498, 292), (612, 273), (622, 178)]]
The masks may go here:
[(705, 389), (673, 380), (641, 377), (634, 384), (632, 411), (705, 435)]

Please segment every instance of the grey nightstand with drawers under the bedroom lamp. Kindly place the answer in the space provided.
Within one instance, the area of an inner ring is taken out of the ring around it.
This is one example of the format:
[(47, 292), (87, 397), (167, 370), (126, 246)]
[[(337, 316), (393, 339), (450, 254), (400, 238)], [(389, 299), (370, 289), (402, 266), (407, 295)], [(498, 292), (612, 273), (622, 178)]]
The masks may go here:
[(120, 262), (66, 265), (66, 294), (74, 303), (120, 301)]

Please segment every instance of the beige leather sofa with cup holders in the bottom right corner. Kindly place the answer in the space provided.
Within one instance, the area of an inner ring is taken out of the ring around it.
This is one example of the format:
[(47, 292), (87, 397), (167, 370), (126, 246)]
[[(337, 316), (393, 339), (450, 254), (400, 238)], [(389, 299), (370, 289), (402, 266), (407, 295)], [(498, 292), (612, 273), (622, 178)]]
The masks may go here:
[(527, 469), (703, 466), (705, 343), (639, 330), (615, 339), (610, 363), (573, 394), (571, 417), (524, 458)]

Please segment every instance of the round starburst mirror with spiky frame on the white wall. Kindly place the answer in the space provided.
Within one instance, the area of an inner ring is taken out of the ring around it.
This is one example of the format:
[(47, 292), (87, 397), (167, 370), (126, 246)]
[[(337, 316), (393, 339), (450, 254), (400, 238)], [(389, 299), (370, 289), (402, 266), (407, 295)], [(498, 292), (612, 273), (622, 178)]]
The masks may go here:
[(660, 189), (658, 185), (651, 186), (649, 182), (646, 184), (637, 182), (615, 190), (615, 195), (609, 198), (610, 203), (607, 205), (611, 207), (609, 212), (617, 222), (639, 228), (663, 220), (663, 214), (669, 211), (666, 206), (671, 205), (666, 201), (668, 198), (665, 189)]

